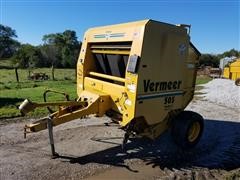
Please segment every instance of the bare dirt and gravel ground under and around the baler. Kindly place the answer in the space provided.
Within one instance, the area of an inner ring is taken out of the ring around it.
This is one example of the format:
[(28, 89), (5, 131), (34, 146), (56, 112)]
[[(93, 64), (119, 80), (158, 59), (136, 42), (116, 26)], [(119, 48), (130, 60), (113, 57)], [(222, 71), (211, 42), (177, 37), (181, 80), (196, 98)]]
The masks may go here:
[(90, 117), (54, 128), (51, 159), (48, 133), (23, 139), (24, 121), (0, 124), (0, 179), (223, 179), (240, 178), (238, 108), (197, 99), (187, 109), (205, 118), (199, 144), (181, 151), (166, 132), (155, 141), (131, 139), (121, 149), (123, 131)]

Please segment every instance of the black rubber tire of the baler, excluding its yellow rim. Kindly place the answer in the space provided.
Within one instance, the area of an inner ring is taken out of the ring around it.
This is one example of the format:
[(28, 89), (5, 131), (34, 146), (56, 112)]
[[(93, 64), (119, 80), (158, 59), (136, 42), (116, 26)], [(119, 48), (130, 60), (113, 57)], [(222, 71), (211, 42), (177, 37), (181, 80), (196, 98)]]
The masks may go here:
[[(199, 123), (200, 131), (197, 138), (191, 142), (188, 139), (188, 132), (195, 122)], [(182, 111), (172, 121), (172, 138), (182, 149), (191, 149), (199, 142), (203, 133), (203, 128), (204, 119), (200, 114), (193, 111)]]

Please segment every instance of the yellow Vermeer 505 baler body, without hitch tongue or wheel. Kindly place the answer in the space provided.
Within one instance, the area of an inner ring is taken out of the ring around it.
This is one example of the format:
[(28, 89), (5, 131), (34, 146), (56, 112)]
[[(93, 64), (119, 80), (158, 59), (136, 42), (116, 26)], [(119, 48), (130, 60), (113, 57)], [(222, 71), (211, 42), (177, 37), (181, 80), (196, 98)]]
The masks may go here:
[(143, 20), (92, 28), (77, 63), (78, 96), (108, 95), (121, 126), (143, 119), (142, 133), (154, 138), (192, 100), (199, 56), (181, 26)]

